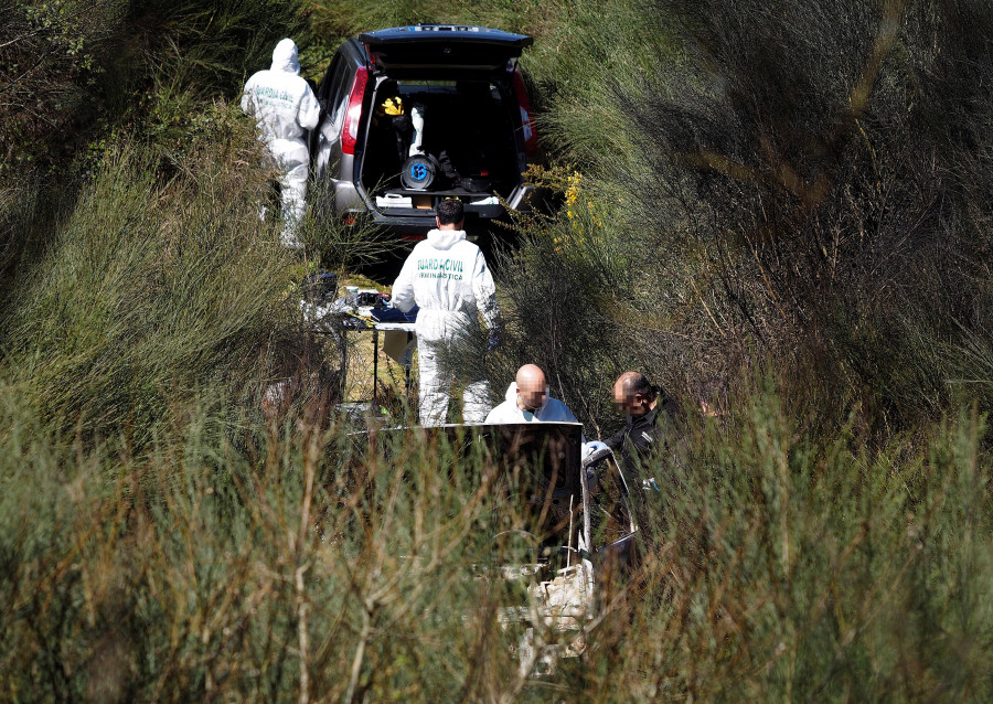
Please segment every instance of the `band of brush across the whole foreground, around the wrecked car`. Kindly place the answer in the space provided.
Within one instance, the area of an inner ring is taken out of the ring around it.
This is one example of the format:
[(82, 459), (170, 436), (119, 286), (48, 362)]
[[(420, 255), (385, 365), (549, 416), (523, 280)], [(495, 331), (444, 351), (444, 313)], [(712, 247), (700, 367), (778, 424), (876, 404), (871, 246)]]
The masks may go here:
[(990, 695), (975, 415), (869, 452), (800, 433), (769, 390), (695, 427), (656, 468), (656, 542), (602, 594), (581, 664), (532, 681), (484, 569), (484, 454), (312, 426), (233, 445), (191, 408), (139, 457), (49, 435), (4, 397), (8, 698)]

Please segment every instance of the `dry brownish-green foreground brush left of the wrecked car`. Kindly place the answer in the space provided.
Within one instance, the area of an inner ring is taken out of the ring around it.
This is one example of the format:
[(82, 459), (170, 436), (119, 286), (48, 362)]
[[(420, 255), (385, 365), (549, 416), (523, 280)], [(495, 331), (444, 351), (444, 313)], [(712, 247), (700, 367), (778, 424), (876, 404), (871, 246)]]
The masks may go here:
[[(147, 460), (51, 438), (25, 483), (28, 416), (6, 410), (8, 695), (286, 698), (302, 668), (321, 697), (424, 700), (513, 679), (485, 583), (468, 570), (489, 558), (473, 526), (492, 506), (448, 447), (402, 438), (405, 473), (361, 449), (350, 465), (344, 435), (274, 435), (255, 463), (197, 418)], [(324, 455), (329, 441), (341, 451)], [(485, 658), (474, 666), (493, 680), (466, 681), (452, 650)]]

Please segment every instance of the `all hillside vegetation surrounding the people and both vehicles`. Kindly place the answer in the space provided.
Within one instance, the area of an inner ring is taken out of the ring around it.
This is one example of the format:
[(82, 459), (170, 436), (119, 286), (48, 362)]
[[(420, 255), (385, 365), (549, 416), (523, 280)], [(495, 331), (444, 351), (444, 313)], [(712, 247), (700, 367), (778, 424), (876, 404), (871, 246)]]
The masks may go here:
[[(298, 319), (305, 273), (387, 245), (310, 218), (301, 259), (257, 217), (245, 78), (284, 35), (319, 78), (420, 21), (535, 36), (562, 203), (494, 255), (502, 348), (450, 363), (494, 394), (541, 364), (589, 438), (626, 369), (685, 408), (642, 564), (543, 681), (474, 576), (476, 462), (356, 447)], [(0, 698), (993, 696), (987, 2), (6, 0), (0, 28)]]

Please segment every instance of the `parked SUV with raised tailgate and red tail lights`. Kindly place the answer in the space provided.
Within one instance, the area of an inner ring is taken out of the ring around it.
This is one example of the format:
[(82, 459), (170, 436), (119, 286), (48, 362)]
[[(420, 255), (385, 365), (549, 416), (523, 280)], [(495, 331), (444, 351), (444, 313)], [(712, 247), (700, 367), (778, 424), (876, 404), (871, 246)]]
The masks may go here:
[(311, 145), (333, 210), (419, 238), (442, 199), (463, 202), (469, 230), (504, 216), (504, 204), (528, 209), (523, 172), (537, 136), (517, 58), (532, 43), (444, 24), (345, 41), (318, 86)]

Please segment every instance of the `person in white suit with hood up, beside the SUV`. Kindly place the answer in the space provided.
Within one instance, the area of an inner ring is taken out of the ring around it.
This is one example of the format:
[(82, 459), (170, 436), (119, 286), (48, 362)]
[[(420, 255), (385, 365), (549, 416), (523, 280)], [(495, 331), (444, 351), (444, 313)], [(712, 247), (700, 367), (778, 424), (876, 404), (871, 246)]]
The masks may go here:
[(242, 109), (255, 116), (269, 154), (281, 171), (282, 244), (298, 249), (297, 225), (303, 217), (310, 152), (307, 131), (317, 127), (320, 105), (300, 77), (297, 45), (280, 40), (273, 51), (273, 67), (248, 78)]

